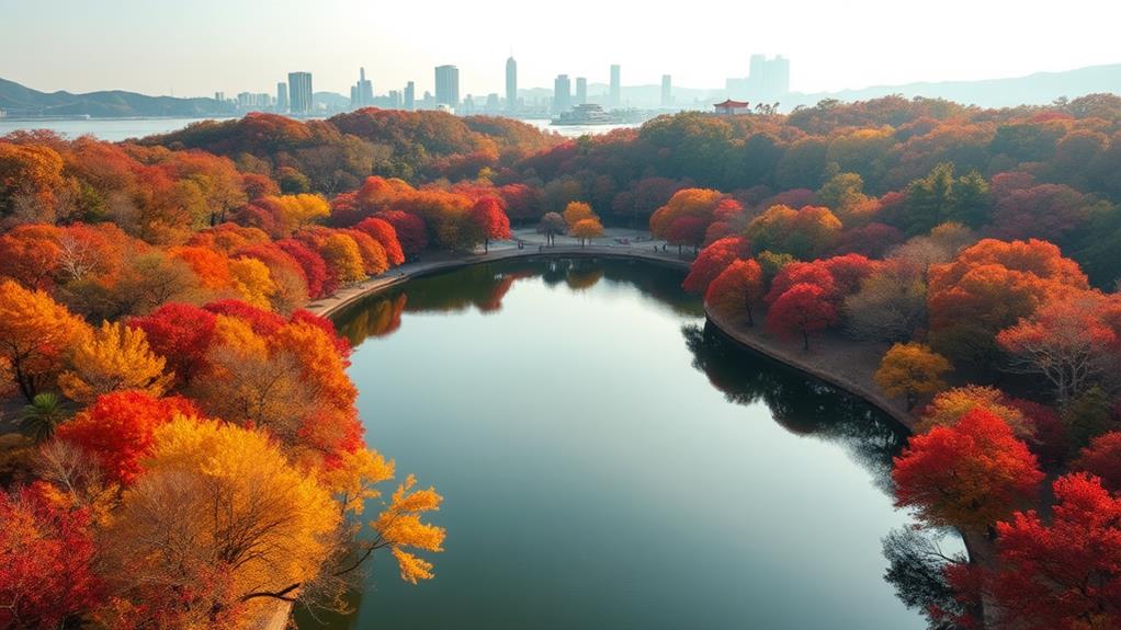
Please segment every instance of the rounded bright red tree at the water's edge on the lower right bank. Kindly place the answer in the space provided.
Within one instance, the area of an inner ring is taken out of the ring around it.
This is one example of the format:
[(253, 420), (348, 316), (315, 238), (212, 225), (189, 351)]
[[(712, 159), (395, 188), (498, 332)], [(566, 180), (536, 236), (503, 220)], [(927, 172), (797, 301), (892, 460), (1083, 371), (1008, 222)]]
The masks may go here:
[(910, 439), (895, 458), (896, 505), (932, 527), (985, 530), (1034, 498), (1043, 473), (1001, 419), (974, 410)]

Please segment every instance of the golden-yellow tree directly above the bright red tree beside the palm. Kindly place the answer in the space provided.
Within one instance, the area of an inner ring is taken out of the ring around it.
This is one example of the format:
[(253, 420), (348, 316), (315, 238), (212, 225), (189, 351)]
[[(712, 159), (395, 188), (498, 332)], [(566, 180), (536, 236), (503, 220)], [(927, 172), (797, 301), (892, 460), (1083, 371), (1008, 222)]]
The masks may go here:
[(105, 321), (74, 345), (70, 369), (58, 377), (58, 386), (80, 403), (119, 389), (139, 389), (159, 397), (175, 378), (164, 373), (166, 364), (148, 347), (143, 330)]

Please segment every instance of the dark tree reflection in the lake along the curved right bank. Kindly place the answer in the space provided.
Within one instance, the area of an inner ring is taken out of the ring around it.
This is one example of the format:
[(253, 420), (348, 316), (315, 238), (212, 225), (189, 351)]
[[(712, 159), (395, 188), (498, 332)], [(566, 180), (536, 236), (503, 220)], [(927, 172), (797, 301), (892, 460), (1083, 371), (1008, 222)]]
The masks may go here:
[(907, 435), (895, 420), (856, 396), (740, 348), (711, 325), (685, 326), (682, 332), (693, 351), (693, 366), (729, 401), (762, 402), (791, 433), (843, 444), (879, 488), (892, 491), (891, 458)]

